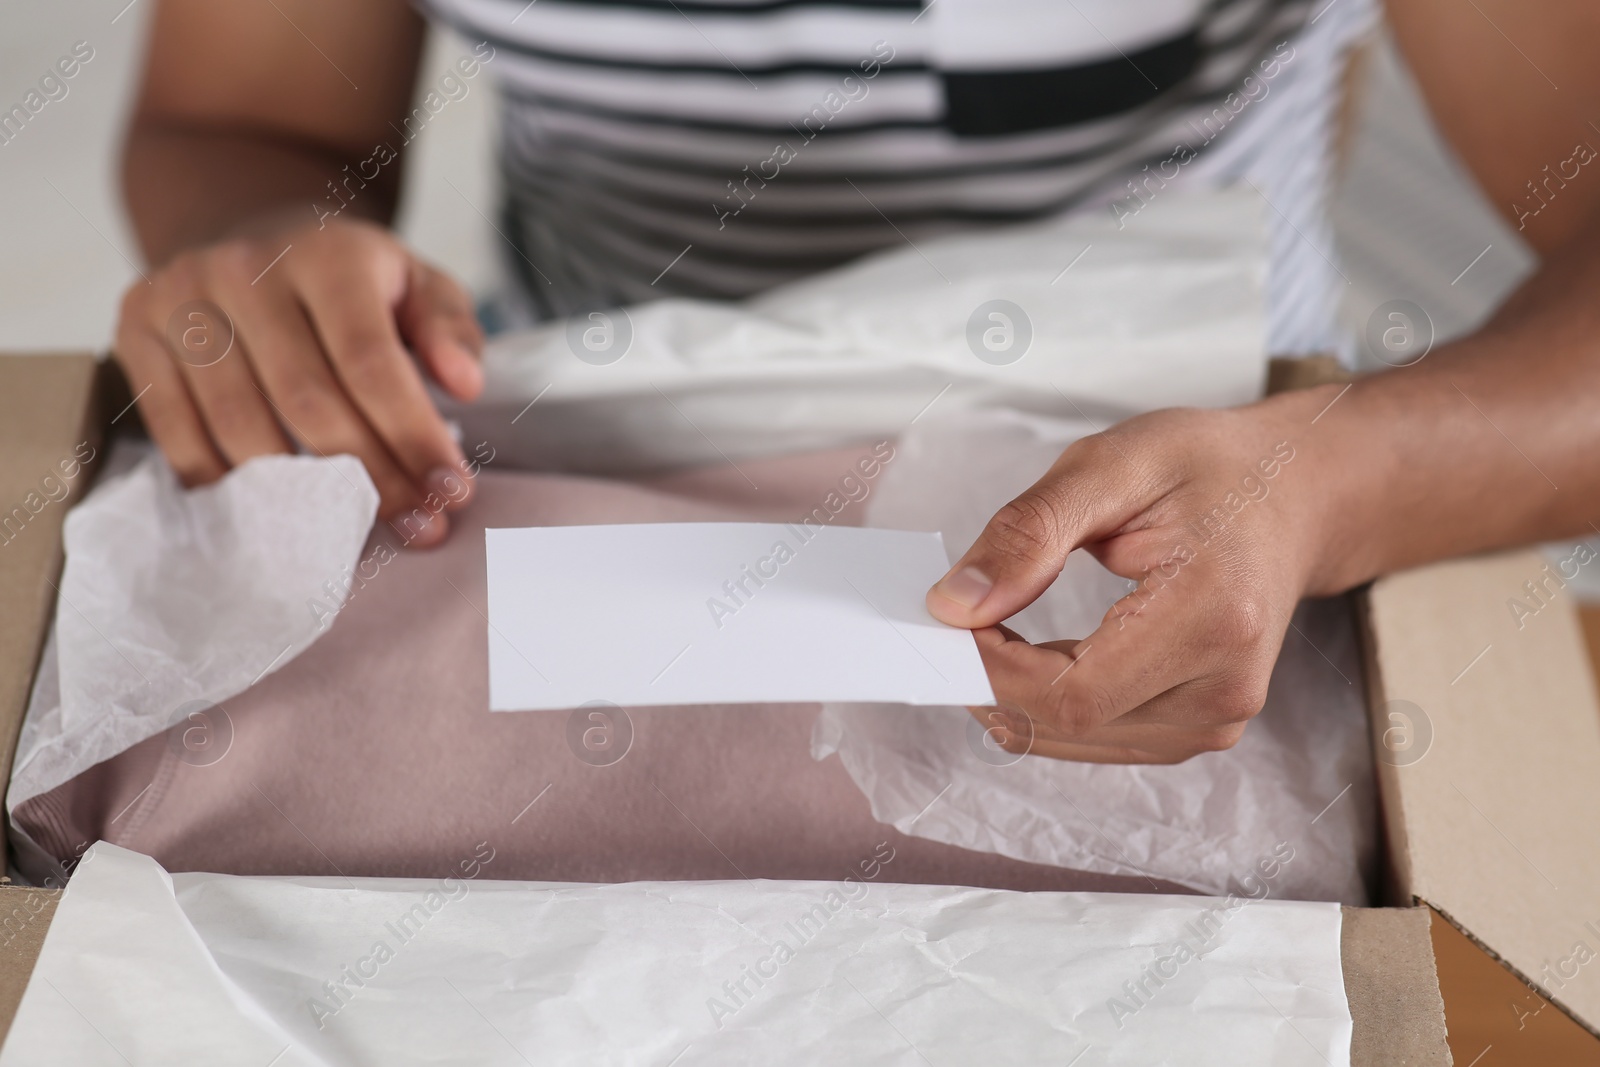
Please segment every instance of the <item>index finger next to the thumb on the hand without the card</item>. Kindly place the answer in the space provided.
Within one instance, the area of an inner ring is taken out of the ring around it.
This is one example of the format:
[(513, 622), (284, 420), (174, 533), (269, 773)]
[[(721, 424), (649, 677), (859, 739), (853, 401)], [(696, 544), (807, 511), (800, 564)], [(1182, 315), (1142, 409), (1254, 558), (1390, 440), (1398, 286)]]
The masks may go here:
[[(381, 264), (352, 269), (347, 259), (307, 258), (302, 264), (293, 275), (296, 291), (344, 394), (413, 485), (435, 490), (453, 504), (466, 502), (470, 482), (462, 477), (461, 446), (400, 342), (395, 307), (403, 296), (403, 274), (384, 278)], [(394, 269), (405, 270), (403, 264)], [(446, 490), (448, 480), (454, 485)]]

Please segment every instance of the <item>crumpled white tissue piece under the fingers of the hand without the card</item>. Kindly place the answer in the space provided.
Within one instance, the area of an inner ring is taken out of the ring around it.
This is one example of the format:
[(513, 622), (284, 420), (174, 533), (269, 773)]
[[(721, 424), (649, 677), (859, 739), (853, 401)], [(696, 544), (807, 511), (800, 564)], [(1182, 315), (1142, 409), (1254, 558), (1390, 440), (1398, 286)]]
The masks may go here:
[(67, 515), (6, 811), (299, 656), (342, 608), (376, 514), (354, 456), (261, 456), (184, 490), (152, 453), (101, 482)]

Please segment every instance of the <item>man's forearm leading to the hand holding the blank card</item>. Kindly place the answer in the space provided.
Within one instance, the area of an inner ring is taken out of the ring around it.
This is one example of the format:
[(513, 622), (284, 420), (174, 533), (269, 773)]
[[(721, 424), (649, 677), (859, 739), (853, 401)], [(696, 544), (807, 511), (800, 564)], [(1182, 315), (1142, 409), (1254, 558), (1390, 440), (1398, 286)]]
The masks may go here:
[(1597, 238), (1590, 221), (1478, 333), (1344, 395), (1325, 389), (1302, 402), (1314, 416), (1333, 403), (1301, 435), (1310, 459), (1302, 499), (1320, 526), (1310, 592), (1595, 533)]

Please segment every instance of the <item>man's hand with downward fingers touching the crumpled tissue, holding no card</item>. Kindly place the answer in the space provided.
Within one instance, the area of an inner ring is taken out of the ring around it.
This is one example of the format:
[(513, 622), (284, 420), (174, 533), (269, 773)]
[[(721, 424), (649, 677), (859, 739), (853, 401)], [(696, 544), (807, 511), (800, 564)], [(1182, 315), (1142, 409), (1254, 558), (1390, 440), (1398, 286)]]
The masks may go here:
[(176, 256), (123, 298), (115, 358), (186, 485), (296, 442), (350, 453), (378, 486), (379, 514), (427, 545), (470, 480), (422, 371), (472, 400), (482, 347), (456, 282), (381, 226), (333, 219)]

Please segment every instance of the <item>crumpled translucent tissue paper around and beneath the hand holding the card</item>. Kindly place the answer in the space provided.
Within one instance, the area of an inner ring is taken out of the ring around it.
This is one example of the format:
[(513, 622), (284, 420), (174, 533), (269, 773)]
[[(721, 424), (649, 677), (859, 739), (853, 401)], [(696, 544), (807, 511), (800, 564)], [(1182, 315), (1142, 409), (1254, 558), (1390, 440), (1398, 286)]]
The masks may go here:
[[(896, 445), (867, 525), (941, 531), (958, 557), (1000, 506), (1091, 432), (1086, 422), (1008, 413), (920, 422)], [(1074, 552), (1054, 585), (1006, 625), (1034, 641), (1088, 637), (1131, 587)], [(829, 704), (813, 755), (837, 752), (874, 817), (902, 833), (1213, 894), (1248, 891), (1259, 859), (1286, 845), (1294, 859), (1274, 896), (1362, 905), (1378, 801), (1355, 629), (1342, 600), (1301, 605), (1293, 625), (1266, 709), (1243, 739), (1174, 766), (1014, 757), (957, 707)]]

